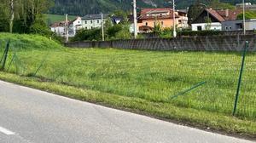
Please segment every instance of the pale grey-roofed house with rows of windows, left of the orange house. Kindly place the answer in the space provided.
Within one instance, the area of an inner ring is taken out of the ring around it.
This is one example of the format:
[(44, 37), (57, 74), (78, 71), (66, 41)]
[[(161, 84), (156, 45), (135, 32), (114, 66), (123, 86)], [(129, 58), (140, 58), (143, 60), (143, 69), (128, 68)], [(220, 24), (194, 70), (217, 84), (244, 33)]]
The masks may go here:
[(108, 19), (108, 14), (87, 14), (82, 17), (82, 28), (93, 29), (102, 27), (102, 15), (103, 20)]

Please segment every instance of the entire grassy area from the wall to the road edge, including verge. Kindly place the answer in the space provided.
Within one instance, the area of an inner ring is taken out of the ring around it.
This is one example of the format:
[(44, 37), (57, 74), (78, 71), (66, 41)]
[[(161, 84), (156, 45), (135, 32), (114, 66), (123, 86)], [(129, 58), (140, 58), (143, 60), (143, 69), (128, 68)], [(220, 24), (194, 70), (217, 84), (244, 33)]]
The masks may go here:
[[(0, 34), (0, 41), (8, 38), (15, 48), (9, 59), (15, 53), (19, 57), (18, 68), (13, 64), (8, 72), (22, 77), (1, 72), (1, 79), (194, 126), (256, 135), (254, 54), (247, 57), (247, 84), (242, 87), (240, 118), (236, 118), (230, 113), (239, 54), (64, 49), (45, 37)], [(169, 99), (202, 81), (207, 84)]]

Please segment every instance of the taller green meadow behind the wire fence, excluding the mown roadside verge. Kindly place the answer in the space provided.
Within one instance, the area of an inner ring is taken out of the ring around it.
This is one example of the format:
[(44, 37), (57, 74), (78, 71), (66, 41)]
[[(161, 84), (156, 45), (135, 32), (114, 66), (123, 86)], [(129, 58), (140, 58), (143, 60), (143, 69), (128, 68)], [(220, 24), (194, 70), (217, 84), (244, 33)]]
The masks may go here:
[[(111, 96), (114, 94), (144, 100), (148, 105), (170, 105), (232, 117), (241, 66), (240, 53), (67, 49), (45, 37), (2, 33), (1, 54), (3, 41), (9, 38), (11, 49), (6, 72), (99, 91), (110, 94), (108, 99), (111, 100), (114, 100), (115, 96)], [(174, 95), (201, 82), (206, 83), (172, 99)], [(250, 134), (255, 134), (256, 54), (247, 54), (242, 82), (236, 117), (237, 120), (250, 122), (250, 128), (253, 128)], [(114, 106), (117, 103), (111, 104)], [(140, 107), (137, 109), (140, 110)], [(145, 111), (150, 113), (149, 109)], [(165, 112), (161, 113), (161, 117), (165, 115)], [(219, 124), (216, 123), (216, 126), (221, 126)]]

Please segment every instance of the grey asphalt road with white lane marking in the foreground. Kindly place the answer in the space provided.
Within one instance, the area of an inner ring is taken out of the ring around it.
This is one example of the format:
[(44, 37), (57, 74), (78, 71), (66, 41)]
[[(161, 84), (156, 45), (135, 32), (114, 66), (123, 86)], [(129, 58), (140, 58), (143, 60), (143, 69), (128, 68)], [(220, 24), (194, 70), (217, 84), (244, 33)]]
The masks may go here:
[(250, 143), (0, 81), (0, 143)]

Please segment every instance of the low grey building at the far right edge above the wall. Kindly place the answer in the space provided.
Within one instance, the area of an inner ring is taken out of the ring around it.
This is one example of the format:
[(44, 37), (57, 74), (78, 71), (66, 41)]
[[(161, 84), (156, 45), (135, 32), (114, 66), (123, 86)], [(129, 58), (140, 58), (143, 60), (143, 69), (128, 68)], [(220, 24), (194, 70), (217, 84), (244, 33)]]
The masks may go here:
[[(245, 29), (247, 31), (256, 30), (256, 19), (246, 20)], [(243, 20), (226, 20), (222, 22), (223, 31), (240, 31), (243, 30)]]

